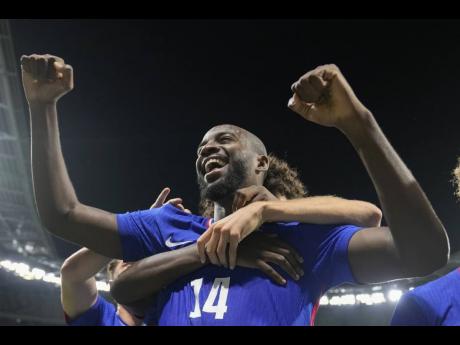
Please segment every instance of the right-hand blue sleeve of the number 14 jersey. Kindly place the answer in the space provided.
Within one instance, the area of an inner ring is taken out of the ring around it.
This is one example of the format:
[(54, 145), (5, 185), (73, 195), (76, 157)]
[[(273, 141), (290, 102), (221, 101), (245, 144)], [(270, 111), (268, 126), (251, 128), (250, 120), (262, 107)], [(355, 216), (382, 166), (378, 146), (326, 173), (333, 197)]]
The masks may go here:
[(348, 244), (360, 229), (353, 225), (335, 225), (327, 231), (321, 231), (313, 273), (322, 291), (343, 283), (357, 283), (348, 259)]

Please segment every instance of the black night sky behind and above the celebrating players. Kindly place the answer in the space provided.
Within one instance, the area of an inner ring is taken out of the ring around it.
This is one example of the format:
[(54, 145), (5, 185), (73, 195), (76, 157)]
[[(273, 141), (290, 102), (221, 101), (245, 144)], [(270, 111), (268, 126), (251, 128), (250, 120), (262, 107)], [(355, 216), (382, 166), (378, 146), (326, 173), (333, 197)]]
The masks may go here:
[[(460, 249), (450, 182), (460, 155), (458, 20), (17, 19), (11, 28), (18, 59), (50, 53), (74, 67), (61, 137), (85, 203), (144, 209), (169, 186), (196, 211), (196, 146), (211, 126), (233, 123), (297, 167), (312, 194), (378, 204), (347, 139), (286, 107), (301, 74), (335, 63)], [(76, 249), (57, 243), (62, 257)]]

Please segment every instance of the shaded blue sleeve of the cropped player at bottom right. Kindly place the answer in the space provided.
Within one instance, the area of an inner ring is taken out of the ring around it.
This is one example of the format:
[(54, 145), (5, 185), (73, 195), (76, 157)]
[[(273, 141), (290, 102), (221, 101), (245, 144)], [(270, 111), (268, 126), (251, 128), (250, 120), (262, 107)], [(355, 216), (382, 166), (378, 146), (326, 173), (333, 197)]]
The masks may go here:
[(396, 306), (391, 326), (434, 326), (420, 302), (415, 295), (407, 292)]

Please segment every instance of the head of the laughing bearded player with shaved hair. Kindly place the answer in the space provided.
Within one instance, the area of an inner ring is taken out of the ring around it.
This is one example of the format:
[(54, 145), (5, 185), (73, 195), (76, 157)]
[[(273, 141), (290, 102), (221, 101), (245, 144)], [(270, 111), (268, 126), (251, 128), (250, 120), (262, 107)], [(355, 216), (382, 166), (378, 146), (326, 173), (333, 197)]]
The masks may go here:
[(234, 126), (211, 128), (198, 146), (196, 172), (201, 198), (221, 201), (240, 188), (262, 185), (267, 150), (251, 132)]

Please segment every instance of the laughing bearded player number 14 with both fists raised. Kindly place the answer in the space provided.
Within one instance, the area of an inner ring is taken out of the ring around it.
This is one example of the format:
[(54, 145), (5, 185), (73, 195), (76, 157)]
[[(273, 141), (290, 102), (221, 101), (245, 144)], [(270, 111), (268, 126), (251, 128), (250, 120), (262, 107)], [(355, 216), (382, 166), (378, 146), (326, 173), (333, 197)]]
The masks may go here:
[[(197, 242), (205, 265), (160, 292), (152, 318), (159, 325), (307, 325), (315, 303), (332, 286), (427, 275), (448, 258), (448, 239), (417, 181), (374, 117), (335, 66), (322, 66), (294, 84), (289, 106), (308, 120), (340, 129), (374, 182), (389, 227), (312, 225), (303, 201), (258, 201), (233, 212), (236, 190), (263, 185), (269, 159), (254, 134), (232, 125), (209, 130), (197, 151), (204, 198), (214, 222), (172, 205), (112, 214), (82, 204), (62, 156), (58, 99), (73, 88), (73, 72), (49, 55), (22, 58), (32, 130), (37, 208), (54, 234), (109, 257), (136, 261)], [(302, 207), (299, 205), (302, 203)], [(233, 213), (232, 213), (233, 212)], [(299, 222), (300, 221), (300, 222)], [(260, 272), (235, 267), (244, 239), (259, 229), (302, 255), (305, 274), (272, 284)]]

